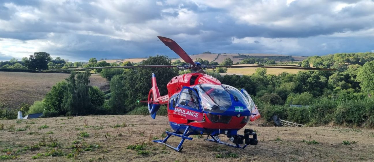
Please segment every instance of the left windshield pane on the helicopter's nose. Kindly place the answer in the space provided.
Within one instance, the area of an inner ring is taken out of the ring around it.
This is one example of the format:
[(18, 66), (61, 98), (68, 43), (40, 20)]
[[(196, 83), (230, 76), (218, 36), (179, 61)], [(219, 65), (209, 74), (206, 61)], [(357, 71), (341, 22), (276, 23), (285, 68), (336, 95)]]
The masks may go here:
[(232, 104), (230, 94), (222, 86), (199, 84), (198, 91), (204, 111), (223, 113)]

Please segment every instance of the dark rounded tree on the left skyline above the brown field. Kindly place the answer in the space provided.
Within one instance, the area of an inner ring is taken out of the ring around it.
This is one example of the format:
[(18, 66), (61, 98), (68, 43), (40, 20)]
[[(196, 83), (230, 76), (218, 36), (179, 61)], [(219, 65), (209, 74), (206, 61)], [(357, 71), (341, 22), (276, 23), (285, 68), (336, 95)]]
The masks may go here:
[(25, 62), (28, 69), (48, 70), (48, 63), (51, 60), (47, 52), (34, 52), (30, 55), (29, 60)]

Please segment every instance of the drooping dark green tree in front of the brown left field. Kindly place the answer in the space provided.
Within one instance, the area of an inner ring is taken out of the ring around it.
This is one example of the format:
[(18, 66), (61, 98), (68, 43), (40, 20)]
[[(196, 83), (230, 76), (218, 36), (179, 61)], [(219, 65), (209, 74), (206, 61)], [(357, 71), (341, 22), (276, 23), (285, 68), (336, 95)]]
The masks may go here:
[(62, 86), (67, 92), (64, 94), (62, 110), (67, 111), (68, 115), (85, 115), (92, 112), (92, 104), (89, 96), (89, 71), (81, 74), (72, 72), (69, 78), (66, 78), (67, 85)]

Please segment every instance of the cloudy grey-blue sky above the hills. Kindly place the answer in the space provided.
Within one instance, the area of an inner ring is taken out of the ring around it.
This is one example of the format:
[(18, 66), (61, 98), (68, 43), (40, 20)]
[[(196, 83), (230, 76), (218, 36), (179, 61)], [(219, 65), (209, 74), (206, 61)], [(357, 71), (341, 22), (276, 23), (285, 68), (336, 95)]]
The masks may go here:
[(0, 60), (374, 51), (374, 0), (0, 0)]

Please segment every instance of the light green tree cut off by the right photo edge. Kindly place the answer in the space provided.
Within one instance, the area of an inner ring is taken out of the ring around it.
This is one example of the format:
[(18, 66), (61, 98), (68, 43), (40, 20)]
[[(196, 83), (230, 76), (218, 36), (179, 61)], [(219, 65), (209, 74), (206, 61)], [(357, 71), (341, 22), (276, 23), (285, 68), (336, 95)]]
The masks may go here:
[(374, 61), (365, 63), (358, 69), (356, 80), (360, 83), (361, 89), (374, 90)]

